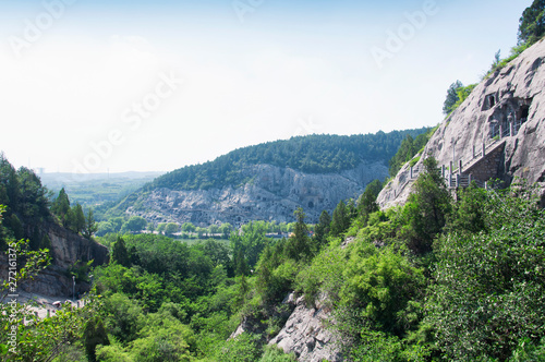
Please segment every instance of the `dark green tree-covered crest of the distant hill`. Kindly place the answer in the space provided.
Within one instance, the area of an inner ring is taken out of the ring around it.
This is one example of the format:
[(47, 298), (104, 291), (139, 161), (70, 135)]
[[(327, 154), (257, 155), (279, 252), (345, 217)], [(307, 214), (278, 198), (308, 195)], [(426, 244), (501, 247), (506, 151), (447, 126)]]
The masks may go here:
[(307, 173), (339, 172), (361, 161), (384, 161), (396, 154), (402, 140), (416, 137), (427, 129), (351, 136), (314, 134), (275, 141), (235, 149), (203, 165), (186, 166), (148, 183), (145, 189), (207, 190), (246, 180), (241, 172), (247, 166), (267, 164)]

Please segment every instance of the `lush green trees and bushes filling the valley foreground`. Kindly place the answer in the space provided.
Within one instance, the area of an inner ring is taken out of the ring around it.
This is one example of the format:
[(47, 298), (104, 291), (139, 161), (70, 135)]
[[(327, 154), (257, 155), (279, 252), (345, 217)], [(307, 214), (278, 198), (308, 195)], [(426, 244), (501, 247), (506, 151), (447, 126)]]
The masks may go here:
[[(280, 302), (295, 291), (308, 305), (331, 311), (329, 328), (350, 360), (543, 360), (545, 212), (534, 190), (472, 185), (453, 198), (435, 160), (424, 166), (403, 207), (378, 209), (377, 180), (358, 203), (340, 202), (332, 217), (323, 213), (314, 236), (301, 208), (289, 239), (267, 238), (288, 226), (264, 221), (231, 232), (228, 242), (107, 234), (101, 242), (111, 249), (110, 264), (93, 272), (101, 297), (89, 297), (85, 309), (34, 317), (17, 330), (24, 353), (4, 345), (0, 357), (293, 361), (265, 342), (290, 313)], [(68, 214), (73, 207), (65, 198), (60, 193), (53, 205)], [(138, 218), (117, 221), (120, 230), (146, 227)], [(14, 231), (0, 231), (13, 244)], [(219, 226), (207, 231), (222, 234)], [(341, 248), (347, 237), (352, 242)], [(16, 245), (27, 255), (22, 278), (47, 265), (46, 250)], [(23, 306), (17, 313), (28, 314)], [(242, 321), (249, 330), (229, 339)]]

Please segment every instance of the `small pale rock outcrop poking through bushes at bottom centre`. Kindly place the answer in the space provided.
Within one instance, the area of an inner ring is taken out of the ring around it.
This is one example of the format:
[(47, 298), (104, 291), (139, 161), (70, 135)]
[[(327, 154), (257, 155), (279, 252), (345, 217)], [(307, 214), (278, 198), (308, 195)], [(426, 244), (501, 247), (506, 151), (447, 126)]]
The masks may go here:
[(329, 312), (319, 303), (308, 309), (304, 298), (299, 298), (295, 310), (269, 345), (278, 345), (286, 353), (295, 354), (298, 361), (342, 361), (340, 341), (326, 328)]

